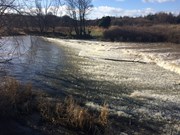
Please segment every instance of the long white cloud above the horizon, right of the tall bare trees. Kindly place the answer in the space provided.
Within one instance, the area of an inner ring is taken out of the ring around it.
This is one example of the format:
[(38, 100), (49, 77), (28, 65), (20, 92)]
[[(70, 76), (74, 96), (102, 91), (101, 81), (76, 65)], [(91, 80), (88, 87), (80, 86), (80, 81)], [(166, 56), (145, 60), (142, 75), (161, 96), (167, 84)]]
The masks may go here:
[(96, 19), (96, 18), (102, 18), (103, 16), (131, 16), (131, 17), (137, 17), (137, 16), (145, 16), (150, 13), (155, 13), (155, 11), (151, 8), (146, 9), (133, 9), (133, 10), (127, 10), (122, 8), (115, 8), (115, 7), (109, 7), (109, 6), (100, 6), (100, 7), (94, 7), (91, 13), (89, 14), (89, 19)]

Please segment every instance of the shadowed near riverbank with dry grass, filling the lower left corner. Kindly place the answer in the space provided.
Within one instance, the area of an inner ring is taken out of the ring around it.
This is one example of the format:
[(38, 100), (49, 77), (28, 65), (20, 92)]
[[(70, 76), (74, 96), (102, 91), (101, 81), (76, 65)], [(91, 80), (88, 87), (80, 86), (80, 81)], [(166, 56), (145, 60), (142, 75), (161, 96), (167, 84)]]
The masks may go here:
[[(64, 100), (33, 90), (31, 84), (5, 77), (0, 84), (0, 134), (104, 134), (108, 109), (99, 112), (80, 106), (72, 96)], [(8, 125), (8, 126), (7, 126)]]

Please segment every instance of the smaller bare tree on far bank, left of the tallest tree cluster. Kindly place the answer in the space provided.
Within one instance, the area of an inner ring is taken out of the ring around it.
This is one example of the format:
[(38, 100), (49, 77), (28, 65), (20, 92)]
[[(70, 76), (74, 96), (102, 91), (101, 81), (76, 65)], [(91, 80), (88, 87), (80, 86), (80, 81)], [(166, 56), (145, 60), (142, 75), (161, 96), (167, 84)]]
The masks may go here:
[[(29, 9), (28, 12), (35, 16), (36, 25), (41, 33), (47, 32), (50, 27), (55, 31), (57, 23), (55, 23), (54, 16), (59, 14), (60, 0), (31, 0), (31, 2), (24, 1), (24, 3), (26, 8)], [(49, 19), (53, 20), (49, 21)]]

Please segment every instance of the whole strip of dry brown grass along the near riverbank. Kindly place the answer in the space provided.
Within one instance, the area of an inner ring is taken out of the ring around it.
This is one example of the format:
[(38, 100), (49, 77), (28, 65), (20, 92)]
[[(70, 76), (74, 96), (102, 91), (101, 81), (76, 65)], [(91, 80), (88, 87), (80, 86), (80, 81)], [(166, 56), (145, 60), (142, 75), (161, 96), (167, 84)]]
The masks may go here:
[(0, 85), (0, 116), (21, 118), (36, 112), (43, 123), (63, 126), (80, 134), (105, 134), (108, 126), (108, 108), (100, 112), (80, 106), (72, 96), (64, 100), (36, 94), (32, 85), (21, 85), (6, 77)]

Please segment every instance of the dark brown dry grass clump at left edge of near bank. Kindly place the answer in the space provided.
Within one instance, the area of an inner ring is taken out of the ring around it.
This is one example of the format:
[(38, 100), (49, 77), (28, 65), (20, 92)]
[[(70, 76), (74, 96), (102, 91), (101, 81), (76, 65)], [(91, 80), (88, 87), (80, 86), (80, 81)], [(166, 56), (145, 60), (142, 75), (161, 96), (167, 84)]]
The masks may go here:
[(20, 85), (13, 79), (6, 77), (0, 84), (0, 114), (14, 116), (31, 110), (32, 86)]

